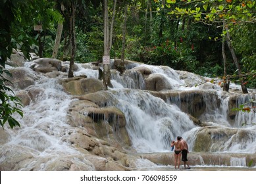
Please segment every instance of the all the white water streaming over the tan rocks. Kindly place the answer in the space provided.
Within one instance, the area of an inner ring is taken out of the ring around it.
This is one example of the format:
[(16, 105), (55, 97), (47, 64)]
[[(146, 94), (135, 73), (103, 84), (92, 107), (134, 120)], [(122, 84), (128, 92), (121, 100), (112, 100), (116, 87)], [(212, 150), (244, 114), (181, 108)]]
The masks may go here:
[[(74, 72), (75, 76), (98, 77), (98, 70), (93, 70), (90, 64), (76, 65), (78, 70)], [(139, 65), (134, 64), (130, 68)], [(36, 156), (79, 154), (78, 150), (62, 141), (63, 137), (68, 135), (70, 131), (76, 131), (74, 127), (66, 124), (68, 106), (74, 99), (72, 99), (72, 95), (64, 93), (63, 87), (58, 82), (59, 79), (64, 78), (64, 74), (57, 78), (49, 78), (33, 72), (29, 66), (30, 64), (26, 64), (23, 69), (32, 76), (36, 76), (36, 83), (30, 85), (26, 91), (37, 91), (37, 95), (30, 105), (22, 108), (24, 118), (17, 116), (22, 127), (13, 130), (7, 129), (11, 139), (8, 145), (28, 147)], [(205, 110), (199, 119), (206, 122), (209, 127), (220, 131), (224, 129), (223, 134), (211, 132), (212, 145), (209, 152), (245, 152), (250, 154), (256, 152), (256, 127), (242, 126), (242, 122), (256, 122), (256, 113), (241, 114), (238, 112), (234, 124), (231, 125), (228, 122), (228, 102), (230, 99), (228, 95), (222, 94), (220, 87), (201, 89), (200, 86), (188, 85), (186, 81), (180, 80), (178, 72), (166, 66), (149, 66), (146, 64), (140, 66), (149, 68), (152, 73), (166, 78), (172, 90), (163, 92), (174, 92), (178, 95), (172, 98), (166, 97), (166, 101), (164, 101), (149, 91), (145, 91), (143, 76), (136, 70), (126, 71), (127, 73), (123, 76), (120, 76), (118, 72), (112, 73), (113, 88), (108, 93), (115, 100), (109, 101), (107, 105), (116, 106), (124, 113), (126, 129), (136, 152), (170, 152), (170, 141), (176, 139), (178, 135), (181, 135), (188, 142), (190, 151), (193, 151), (196, 146), (197, 135), (203, 127), (193, 124), (188, 114), (182, 112), (180, 97), (183, 91), (192, 90), (205, 91), (201, 97)], [(197, 76), (190, 77), (195, 83), (201, 81), (201, 78)], [(249, 98), (255, 98), (255, 96)], [(187, 96), (188, 106), (190, 106), (192, 98), (190, 95)], [(245, 95), (244, 98), (240, 99), (240, 104), (245, 103), (246, 98), (248, 96)], [(190, 110), (193, 111), (193, 106)], [(227, 135), (226, 131), (234, 133)], [(225, 136), (227, 138), (222, 139)], [(142, 165), (145, 164), (144, 161), (141, 160)], [(230, 162), (232, 162), (232, 166), (245, 165), (244, 158), (234, 157)], [(154, 164), (151, 163), (151, 166)], [(27, 166), (25, 170), (30, 170), (30, 166)]]

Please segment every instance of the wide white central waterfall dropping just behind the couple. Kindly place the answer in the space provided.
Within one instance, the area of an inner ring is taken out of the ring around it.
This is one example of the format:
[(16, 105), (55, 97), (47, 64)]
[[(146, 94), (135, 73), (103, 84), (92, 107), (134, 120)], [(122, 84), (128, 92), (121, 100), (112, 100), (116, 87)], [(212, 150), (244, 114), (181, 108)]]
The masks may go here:
[(145, 91), (116, 90), (113, 98), (126, 116), (126, 129), (139, 152), (168, 151), (171, 140), (195, 127), (177, 106)]

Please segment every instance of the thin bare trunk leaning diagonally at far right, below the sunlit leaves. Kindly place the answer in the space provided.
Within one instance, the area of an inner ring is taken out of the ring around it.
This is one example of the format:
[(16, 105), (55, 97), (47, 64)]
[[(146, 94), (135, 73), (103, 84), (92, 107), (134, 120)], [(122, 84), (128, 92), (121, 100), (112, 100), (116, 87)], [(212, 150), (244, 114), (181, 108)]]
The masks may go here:
[(238, 58), (236, 57), (236, 53), (235, 53), (235, 51), (232, 47), (230, 34), (228, 32), (229, 31), (228, 26), (224, 25), (224, 27), (225, 27), (225, 30), (226, 30), (226, 43), (228, 44), (228, 49), (230, 49), (230, 53), (232, 55), (234, 63), (236, 64), (236, 68), (238, 69), (238, 76), (239, 76), (239, 80), (240, 80), (240, 83), (241, 83), (242, 91), (243, 91), (243, 93), (248, 93), (247, 87), (245, 86), (244, 81), (243, 81), (243, 74), (242, 74), (242, 70), (240, 68), (240, 64), (238, 62)]

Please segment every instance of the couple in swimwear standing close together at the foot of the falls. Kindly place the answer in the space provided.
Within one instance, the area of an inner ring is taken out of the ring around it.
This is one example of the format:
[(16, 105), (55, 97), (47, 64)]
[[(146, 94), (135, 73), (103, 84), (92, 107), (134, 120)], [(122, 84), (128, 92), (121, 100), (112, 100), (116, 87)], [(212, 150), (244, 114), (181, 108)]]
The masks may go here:
[[(182, 139), (182, 137), (178, 136), (177, 141), (172, 141), (171, 147), (175, 147), (174, 149), (174, 164), (175, 169), (178, 166), (178, 169), (180, 168), (180, 156), (182, 156), (182, 161), (184, 162), (184, 168), (190, 169), (190, 166), (188, 165), (188, 144), (186, 141)], [(187, 165), (187, 167), (186, 167)]]

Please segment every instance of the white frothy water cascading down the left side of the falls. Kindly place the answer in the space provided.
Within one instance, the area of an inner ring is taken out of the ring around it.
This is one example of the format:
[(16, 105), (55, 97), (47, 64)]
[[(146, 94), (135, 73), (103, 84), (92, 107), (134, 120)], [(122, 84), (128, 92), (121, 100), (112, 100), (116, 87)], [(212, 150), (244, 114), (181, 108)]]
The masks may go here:
[(9, 130), (9, 144), (28, 147), (41, 155), (77, 152), (61, 141), (70, 129), (66, 124), (66, 110), (72, 101), (70, 96), (64, 93), (57, 78), (47, 78), (28, 68), (23, 69), (37, 76), (36, 83), (26, 89), (36, 91), (37, 95), (30, 105), (22, 108), (24, 117), (17, 116), (22, 126)]

